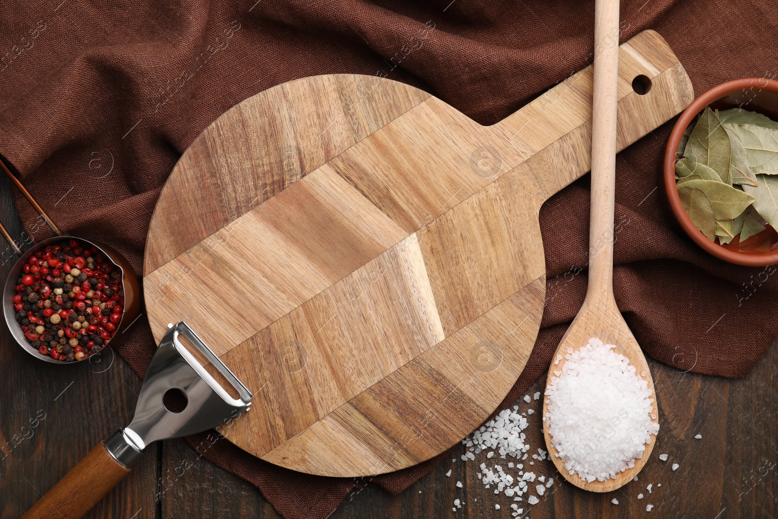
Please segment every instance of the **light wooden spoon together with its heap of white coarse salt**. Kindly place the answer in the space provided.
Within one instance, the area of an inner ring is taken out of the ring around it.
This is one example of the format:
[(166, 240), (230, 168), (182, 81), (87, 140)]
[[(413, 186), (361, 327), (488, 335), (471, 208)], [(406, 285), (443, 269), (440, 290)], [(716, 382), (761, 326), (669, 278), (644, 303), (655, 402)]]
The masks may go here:
[(543, 433), (565, 479), (610, 492), (646, 464), (659, 422), (646, 357), (613, 296), (619, 0), (594, 9), (589, 280), (548, 371)]

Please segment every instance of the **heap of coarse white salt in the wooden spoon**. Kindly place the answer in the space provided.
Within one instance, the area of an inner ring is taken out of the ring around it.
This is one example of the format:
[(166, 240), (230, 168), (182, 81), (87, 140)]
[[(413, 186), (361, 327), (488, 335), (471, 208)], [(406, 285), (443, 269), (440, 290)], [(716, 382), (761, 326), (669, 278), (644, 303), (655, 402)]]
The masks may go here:
[(648, 383), (626, 356), (591, 338), (565, 356), (545, 391), (544, 416), (557, 456), (570, 474), (607, 481), (635, 466), (659, 424)]

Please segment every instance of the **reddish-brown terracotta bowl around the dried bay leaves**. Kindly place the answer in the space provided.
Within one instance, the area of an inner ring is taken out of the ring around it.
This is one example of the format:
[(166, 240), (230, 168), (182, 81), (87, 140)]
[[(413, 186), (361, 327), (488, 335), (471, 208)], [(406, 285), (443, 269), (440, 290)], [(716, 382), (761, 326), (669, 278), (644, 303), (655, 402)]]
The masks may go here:
[(740, 237), (735, 237), (729, 244), (720, 245), (708, 240), (683, 209), (678, 190), (675, 188), (675, 160), (681, 158), (677, 155), (678, 144), (689, 124), (692, 124), (695, 117), (707, 106), (719, 110), (741, 107), (765, 114), (778, 121), (778, 81), (759, 78), (735, 79), (714, 86), (694, 100), (681, 117), (678, 117), (670, 134), (668, 146), (664, 150), (664, 188), (675, 218), (689, 237), (713, 256), (735, 265), (748, 267), (774, 265), (778, 263), (778, 233), (773, 227), (768, 226), (766, 230), (743, 243), (740, 243)]

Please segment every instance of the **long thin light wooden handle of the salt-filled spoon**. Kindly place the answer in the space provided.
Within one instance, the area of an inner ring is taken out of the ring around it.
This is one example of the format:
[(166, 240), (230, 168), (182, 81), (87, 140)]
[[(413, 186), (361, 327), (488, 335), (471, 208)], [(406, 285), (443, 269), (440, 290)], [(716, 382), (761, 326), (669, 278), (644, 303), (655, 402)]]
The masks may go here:
[(594, 99), (591, 133), (589, 297), (613, 297), (613, 212), (616, 183), (616, 82), (619, 0), (594, 4)]

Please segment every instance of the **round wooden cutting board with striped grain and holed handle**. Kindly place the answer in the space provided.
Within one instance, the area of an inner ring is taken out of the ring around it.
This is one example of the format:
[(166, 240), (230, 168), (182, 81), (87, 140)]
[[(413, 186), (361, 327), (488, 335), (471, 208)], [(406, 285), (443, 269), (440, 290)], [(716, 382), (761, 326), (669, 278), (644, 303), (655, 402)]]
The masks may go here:
[[(622, 45), (619, 73), (619, 149), (692, 100), (657, 33)], [(538, 334), (538, 211), (589, 168), (591, 79), (484, 127), (399, 82), (322, 75), (195, 139), (152, 218), (145, 303), (157, 341), (187, 321), (254, 393), (221, 432), (277, 465), (360, 476), (479, 426)]]

